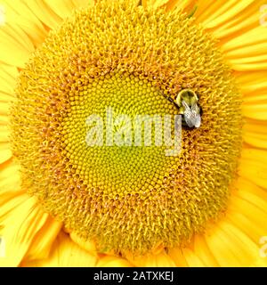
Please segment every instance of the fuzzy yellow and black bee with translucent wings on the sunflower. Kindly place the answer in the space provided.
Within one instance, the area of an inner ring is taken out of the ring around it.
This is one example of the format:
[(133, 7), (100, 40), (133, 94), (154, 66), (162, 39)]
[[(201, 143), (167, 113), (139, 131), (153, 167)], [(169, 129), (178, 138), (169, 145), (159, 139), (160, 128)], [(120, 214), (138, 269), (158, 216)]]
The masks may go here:
[(176, 99), (163, 94), (169, 102), (172, 102), (182, 115), (182, 125), (199, 127), (201, 125), (202, 109), (198, 105), (198, 96), (191, 89), (182, 89)]

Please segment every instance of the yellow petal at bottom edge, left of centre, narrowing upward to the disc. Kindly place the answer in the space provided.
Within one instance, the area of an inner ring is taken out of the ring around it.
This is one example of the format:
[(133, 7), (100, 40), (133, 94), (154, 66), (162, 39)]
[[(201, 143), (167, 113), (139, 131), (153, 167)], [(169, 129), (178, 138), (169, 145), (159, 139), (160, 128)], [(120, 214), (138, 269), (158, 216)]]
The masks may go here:
[(65, 232), (60, 232), (54, 241), (48, 258), (25, 261), (21, 264), (28, 267), (93, 267), (95, 265), (96, 256), (80, 248)]

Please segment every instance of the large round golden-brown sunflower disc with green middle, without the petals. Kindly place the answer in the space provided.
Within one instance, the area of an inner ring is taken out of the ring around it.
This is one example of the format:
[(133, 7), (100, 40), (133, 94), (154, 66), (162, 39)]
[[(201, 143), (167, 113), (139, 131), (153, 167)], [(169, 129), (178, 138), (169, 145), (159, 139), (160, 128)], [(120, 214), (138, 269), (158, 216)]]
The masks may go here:
[[(99, 248), (181, 246), (226, 208), (240, 151), (239, 93), (214, 39), (187, 14), (137, 1), (78, 10), (36, 49), (16, 94), (12, 147), (23, 189)], [(177, 156), (144, 142), (86, 143), (93, 114), (174, 116), (182, 102), (203, 113), (201, 126), (182, 128)]]

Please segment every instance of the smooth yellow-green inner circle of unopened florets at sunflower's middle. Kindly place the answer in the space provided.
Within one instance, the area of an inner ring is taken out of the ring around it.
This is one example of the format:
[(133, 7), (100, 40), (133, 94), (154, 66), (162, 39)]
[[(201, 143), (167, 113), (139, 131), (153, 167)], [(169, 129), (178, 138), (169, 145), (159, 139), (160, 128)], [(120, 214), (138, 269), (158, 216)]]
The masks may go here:
[(179, 162), (181, 137), (174, 138), (177, 110), (148, 80), (108, 74), (79, 85), (69, 104), (58, 128), (66, 175), (73, 170), (88, 191), (101, 188), (101, 199), (158, 192)]

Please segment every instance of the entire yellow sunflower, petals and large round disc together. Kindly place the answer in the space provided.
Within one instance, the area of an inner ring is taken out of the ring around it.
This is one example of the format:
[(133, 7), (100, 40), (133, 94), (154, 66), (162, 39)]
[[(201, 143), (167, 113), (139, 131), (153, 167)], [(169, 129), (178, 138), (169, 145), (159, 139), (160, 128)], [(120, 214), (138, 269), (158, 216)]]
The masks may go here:
[[(0, 265), (266, 266), (263, 4), (2, 1)], [(179, 155), (86, 144), (190, 105)]]

